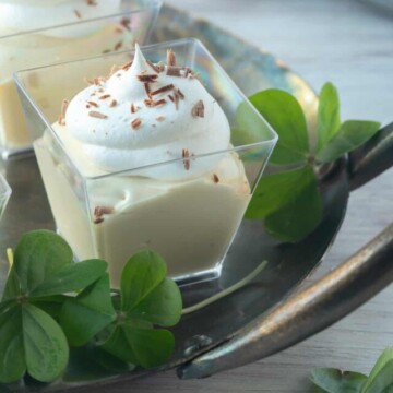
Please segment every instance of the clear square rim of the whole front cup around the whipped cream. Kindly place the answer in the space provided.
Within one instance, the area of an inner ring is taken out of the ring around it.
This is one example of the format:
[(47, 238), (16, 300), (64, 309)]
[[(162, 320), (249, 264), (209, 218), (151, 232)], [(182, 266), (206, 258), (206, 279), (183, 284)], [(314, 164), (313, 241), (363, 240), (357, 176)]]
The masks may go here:
[[(214, 151), (214, 152), (198, 154), (195, 156), (190, 157), (189, 159), (193, 160), (193, 159), (200, 159), (200, 158), (204, 158), (204, 157), (209, 157), (209, 156), (213, 156), (213, 155), (225, 154), (225, 153), (231, 153), (231, 152), (236, 153), (236, 152), (241, 152), (245, 150), (249, 150), (249, 148), (253, 148), (253, 147), (258, 147), (258, 146), (262, 146), (262, 145), (272, 145), (272, 147), (273, 147), (275, 145), (276, 141), (278, 140), (278, 134), (275, 132), (275, 130), (272, 128), (272, 126), (267, 122), (267, 120), (251, 104), (251, 102), (248, 99), (248, 97), (241, 92), (241, 90), (237, 86), (237, 84), (233, 81), (233, 79), (226, 73), (226, 71), (223, 69), (223, 67), (218, 63), (218, 61), (213, 57), (213, 55), (207, 50), (207, 48), (203, 45), (203, 43), (201, 40), (199, 40), (198, 38), (194, 38), (194, 37), (180, 38), (180, 39), (174, 39), (174, 40), (169, 40), (169, 41), (145, 45), (145, 46), (142, 46), (141, 49), (148, 50), (148, 49), (154, 49), (157, 47), (170, 48), (170, 47), (174, 47), (175, 45), (191, 45), (191, 44), (198, 45), (204, 51), (204, 53), (209, 57), (210, 61), (212, 61), (214, 63), (214, 66), (218, 69), (221, 74), (223, 74), (226, 78), (227, 82), (231, 85), (231, 88), (234, 88), (239, 94), (239, 96), (243, 99), (243, 103), (246, 103), (251, 108), (251, 110), (255, 114), (257, 117), (259, 117), (260, 119), (262, 119), (265, 122), (265, 126), (271, 134), (271, 138), (265, 139), (263, 141), (259, 141), (259, 142), (249, 143), (249, 144), (231, 146), (231, 147), (229, 146), (228, 148), (225, 148), (222, 151)], [(110, 171), (110, 172), (104, 174), (104, 175), (86, 176), (86, 175), (82, 174), (81, 170), (78, 168), (72, 156), (68, 153), (68, 151), (67, 151), (63, 142), (59, 138), (58, 133), (53, 130), (52, 124), (48, 121), (48, 119), (41, 112), (41, 110), (37, 106), (37, 104), (32, 99), (29, 93), (25, 90), (24, 84), (23, 84), (22, 80), (20, 79), (20, 74), (34, 72), (37, 70), (41, 70), (41, 69), (50, 69), (52, 67), (59, 67), (59, 66), (63, 66), (63, 64), (78, 63), (81, 61), (91, 61), (94, 59), (115, 57), (115, 56), (119, 56), (122, 53), (134, 53), (134, 49), (110, 52), (110, 53), (105, 53), (105, 55), (97, 55), (97, 56), (83, 58), (83, 59), (63, 61), (63, 62), (59, 62), (59, 63), (55, 63), (55, 64), (50, 64), (50, 66), (41, 66), (41, 67), (31, 68), (31, 69), (26, 69), (26, 70), (20, 70), (17, 72), (13, 73), (13, 79), (14, 79), (17, 87), (23, 92), (25, 97), (28, 99), (29, 104), (33, 106), (34, 110), (39, 115), (39, 117), (46, 124), (47, 129), (49, 130), (50, 134), (55, 138), (56, 142), (61, 146), (63, 153), (66, 154), (66, 156), (72, 164), (73, 169), (79, 174), (79, 176), (82, 179), (85, 179), (85, 180), (100, 180), (100, 179), (105, 179), (105, 178), (110, 178), (112, 176), (123, 176), (126, 174), (131, 175), (132, 172), (150, 169), (150, 168), (157, 167), (157, 166), (180, 163), (180, 162), (183, 162), (184, 158), (182, 158), (182, 157), (174, 158), (174, 159), (153, 163), (153, 164), (148, 164), (148, 165), (144, 165), (144, 166), (139, 166), (139, 167), (133, 167), (133, 168), (128, 168), (128, 169), (122, 169), (122, 170), (114, 170), (114, 171)]]

